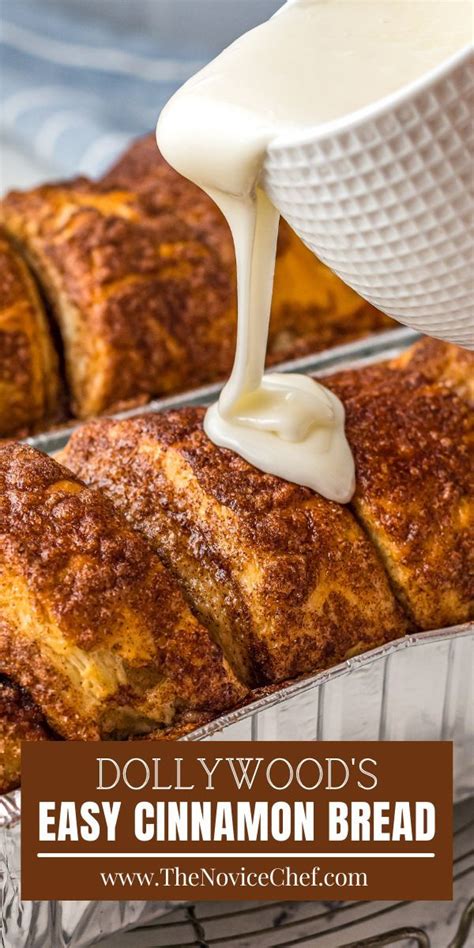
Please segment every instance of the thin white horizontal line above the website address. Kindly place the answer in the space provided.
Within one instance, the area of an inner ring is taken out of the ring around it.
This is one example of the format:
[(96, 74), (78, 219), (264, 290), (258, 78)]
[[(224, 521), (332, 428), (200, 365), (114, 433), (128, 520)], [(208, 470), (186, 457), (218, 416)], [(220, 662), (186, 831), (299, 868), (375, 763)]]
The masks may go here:
[(435, 853), (37, 853), (38, 859), (434, 859)]

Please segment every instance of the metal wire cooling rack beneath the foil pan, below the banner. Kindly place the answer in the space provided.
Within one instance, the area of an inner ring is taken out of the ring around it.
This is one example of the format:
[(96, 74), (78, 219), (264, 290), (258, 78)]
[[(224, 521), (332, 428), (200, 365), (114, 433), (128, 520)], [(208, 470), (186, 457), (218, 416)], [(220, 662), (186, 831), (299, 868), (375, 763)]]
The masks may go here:
[(103, 948), (472, 948), (474, 801), (456, 809), (452, 902), (200, 902)]

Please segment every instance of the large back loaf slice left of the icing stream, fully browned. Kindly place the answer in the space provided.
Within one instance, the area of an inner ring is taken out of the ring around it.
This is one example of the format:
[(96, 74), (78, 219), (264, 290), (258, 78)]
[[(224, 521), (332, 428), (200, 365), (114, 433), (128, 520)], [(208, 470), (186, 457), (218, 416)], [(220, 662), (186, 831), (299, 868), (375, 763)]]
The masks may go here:
[(205, 381), (209, 356), (225, 372), (231, 288), (189, 227), (84, 181), (12, 193), (4, 211), (59, 322), (79, 417)]

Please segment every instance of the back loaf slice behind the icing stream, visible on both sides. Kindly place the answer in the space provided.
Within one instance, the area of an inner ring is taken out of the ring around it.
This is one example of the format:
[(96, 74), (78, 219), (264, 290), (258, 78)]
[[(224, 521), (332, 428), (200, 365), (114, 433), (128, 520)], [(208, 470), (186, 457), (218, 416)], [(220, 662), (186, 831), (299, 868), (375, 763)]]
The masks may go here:
[[(199, 238), (218, 252), (235, 297), (235, 257), (227, 223), (204, 191), (170, 168), (157, 150), (154, 134), (135, 141), (101, 183), (138, 190), (152, 215), (170, 214), (196, 228)], [(320, 352), (393, 325), (388, 316), (345, 286), (281, 221), (269, 364)], [(230, 361), (225, 373), (229, 369)]]

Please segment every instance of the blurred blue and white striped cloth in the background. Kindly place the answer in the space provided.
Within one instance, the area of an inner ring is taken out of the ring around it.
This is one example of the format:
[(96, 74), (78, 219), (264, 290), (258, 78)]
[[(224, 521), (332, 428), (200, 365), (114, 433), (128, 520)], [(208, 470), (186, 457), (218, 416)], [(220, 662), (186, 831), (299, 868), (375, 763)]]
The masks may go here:
[(98, 175), (169, 96), (283, 0), (2, 0), (2, 137)]

